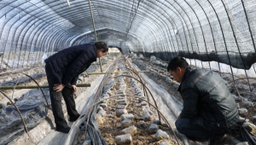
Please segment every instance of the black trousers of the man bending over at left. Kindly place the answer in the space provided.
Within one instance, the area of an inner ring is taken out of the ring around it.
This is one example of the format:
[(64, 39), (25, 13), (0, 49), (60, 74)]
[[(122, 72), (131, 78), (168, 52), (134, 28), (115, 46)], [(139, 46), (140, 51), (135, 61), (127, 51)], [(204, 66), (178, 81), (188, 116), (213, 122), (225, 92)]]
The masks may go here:
[(64, 98), (67, 106), (67, 114), (70, 119), (76, 119), (79, 117), (79, 113), (76, 110), (76, 104), (73, 100), (73, 88), (71, 86), (65, 86), (64, 89), (60, 92), (55, 92), (53, 87), (55, 84), (58, 84), (55, 80), (55, 77), (52, 75), (51, 70), (47, 65), (45, 66), (45, 72), (47, 75), (47, 80), (49, 84), (49, 96), (51, 100), (52, 112), (55, 117), (56, 127), (66, 127), (67, 121), (64, 118), (64, 114), (61, 106), (61, 99)]

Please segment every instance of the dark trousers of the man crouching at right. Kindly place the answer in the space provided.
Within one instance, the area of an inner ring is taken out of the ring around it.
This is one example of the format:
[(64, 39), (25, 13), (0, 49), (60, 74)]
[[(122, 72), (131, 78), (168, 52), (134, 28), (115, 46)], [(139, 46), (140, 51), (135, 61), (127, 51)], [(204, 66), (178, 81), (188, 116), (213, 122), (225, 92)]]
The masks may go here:
[[(214, 136), (219, 135), (215, 134), (213, 131), (207, 131), (199, 125), (190, 124), (190, 119), (177, 119), (175, 122), (177, 131), (181, 134), (189, 137), (195, 137), (199, 139), (209, 140)], [(221, 131), (223, 134), (230, 132), (230, 130)]]

